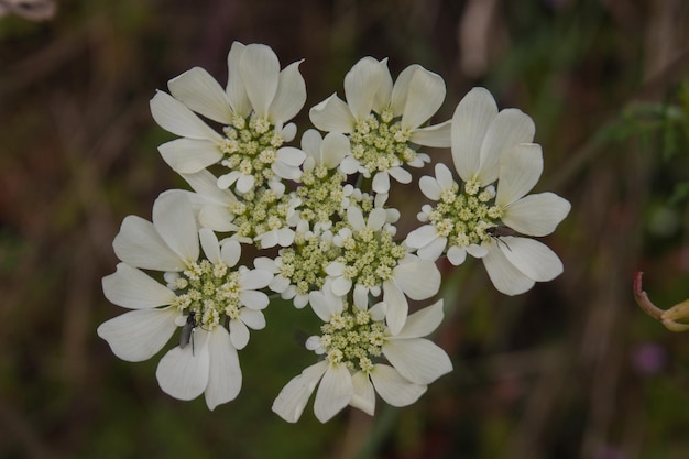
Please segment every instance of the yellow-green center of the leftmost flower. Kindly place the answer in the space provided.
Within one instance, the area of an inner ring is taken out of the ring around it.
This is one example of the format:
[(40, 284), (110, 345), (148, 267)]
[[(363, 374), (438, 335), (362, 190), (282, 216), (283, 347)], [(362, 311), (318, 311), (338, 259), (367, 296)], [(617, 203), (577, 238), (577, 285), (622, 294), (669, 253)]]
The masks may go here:
[(194, 313), (197, 325), (207, 330), (220, 324), (223, 316), (239, 317), (239, 272), (231, 271), (222, 261), (192, 263), (171, 284), (177, 294), (173, 306)]

